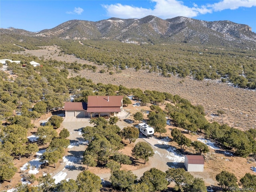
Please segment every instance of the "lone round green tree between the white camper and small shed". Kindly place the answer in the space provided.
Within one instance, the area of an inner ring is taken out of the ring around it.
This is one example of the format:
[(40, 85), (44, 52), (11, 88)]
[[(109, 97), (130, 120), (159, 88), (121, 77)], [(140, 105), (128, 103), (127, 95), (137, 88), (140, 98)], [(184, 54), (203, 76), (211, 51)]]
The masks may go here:
[(154, 151), (150, 144), (140, 141), (132, 149), (132, 156), (136, 159), (143, 159), (144, 164), (146, 164), (146, 161), (148, 161), (150, 157), (154, 156)]

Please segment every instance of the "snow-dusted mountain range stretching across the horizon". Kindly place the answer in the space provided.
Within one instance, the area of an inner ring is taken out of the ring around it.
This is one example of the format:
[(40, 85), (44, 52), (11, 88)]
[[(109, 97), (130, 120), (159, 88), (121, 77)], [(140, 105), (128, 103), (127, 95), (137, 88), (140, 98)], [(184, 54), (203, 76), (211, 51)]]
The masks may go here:
[(109, 18), (97, 22), (70, 20), (39, 32), (1, 28), (0, 33), (64, 40), (108, 39), (133, 44), (187, 43), (194, 46), (256, 48), (256, 33), (248, 25), (182, 16), (166, 20), (151, 15), (141, 19)]

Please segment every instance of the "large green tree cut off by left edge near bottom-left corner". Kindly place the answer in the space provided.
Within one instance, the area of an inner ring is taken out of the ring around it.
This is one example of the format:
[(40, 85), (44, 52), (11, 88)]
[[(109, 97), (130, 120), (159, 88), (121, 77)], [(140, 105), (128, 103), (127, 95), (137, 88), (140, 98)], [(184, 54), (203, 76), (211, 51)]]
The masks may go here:
[(0, 151), (0, 182), (10, 180), (16, 173), (17, 168), (13, 164), (13, 158)]

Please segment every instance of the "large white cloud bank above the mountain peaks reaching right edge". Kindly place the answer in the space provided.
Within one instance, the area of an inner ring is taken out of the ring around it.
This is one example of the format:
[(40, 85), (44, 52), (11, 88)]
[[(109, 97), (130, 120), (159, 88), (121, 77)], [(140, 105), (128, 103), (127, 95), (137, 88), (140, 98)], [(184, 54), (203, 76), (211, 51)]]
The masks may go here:
[(195, 17), (200, 14), (212, 13), (225, 9), (237, 9), (239, 7), (256, 6), (256, 0), (222, 0), (214, 4), (198, 6), (196, 3), (188, 7), (179, 0), (151, 0), (156, 3), (153, 9), (122, 5), (120, 3), (102, 5), (110, 17), (118, 18), (142, 18), (154, 15), (162, 19), (173, 18), (176, 16)]

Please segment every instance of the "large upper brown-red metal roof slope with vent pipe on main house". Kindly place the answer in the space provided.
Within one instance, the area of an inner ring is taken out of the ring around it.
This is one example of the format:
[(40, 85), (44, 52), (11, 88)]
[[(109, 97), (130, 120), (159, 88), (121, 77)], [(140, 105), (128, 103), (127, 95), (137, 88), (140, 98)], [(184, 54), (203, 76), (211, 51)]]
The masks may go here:
[(121, 107), (123, 96), (88, 96), (88, 107)]

